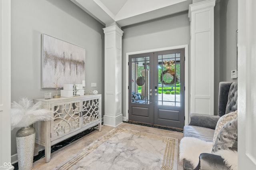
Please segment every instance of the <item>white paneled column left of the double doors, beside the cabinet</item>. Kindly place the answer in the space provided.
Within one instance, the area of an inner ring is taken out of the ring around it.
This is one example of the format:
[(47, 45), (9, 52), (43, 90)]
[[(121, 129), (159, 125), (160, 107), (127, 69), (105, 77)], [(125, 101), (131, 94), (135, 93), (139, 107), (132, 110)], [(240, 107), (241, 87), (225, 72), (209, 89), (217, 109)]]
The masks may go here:
[(104, 125), (122, 123), (122, 35), (116, 25), (103, 29), (105, 34), (105, 113)]

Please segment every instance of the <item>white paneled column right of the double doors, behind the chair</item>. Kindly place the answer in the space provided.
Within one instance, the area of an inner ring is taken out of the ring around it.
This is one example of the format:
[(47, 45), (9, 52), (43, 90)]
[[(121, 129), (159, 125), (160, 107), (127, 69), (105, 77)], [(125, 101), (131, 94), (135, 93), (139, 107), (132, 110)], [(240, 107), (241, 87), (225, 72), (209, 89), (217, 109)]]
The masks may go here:
[(215, 0), (189, 5), (190, 113), (214, 115), (214, 6)]

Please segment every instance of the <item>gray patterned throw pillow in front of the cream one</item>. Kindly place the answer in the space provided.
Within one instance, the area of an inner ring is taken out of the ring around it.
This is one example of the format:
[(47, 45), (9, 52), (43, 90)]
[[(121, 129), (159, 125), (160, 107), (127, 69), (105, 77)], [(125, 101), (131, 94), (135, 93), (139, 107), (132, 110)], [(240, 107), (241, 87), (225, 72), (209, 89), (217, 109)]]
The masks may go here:
[(217, 135), (212, 153), (222, 149), (237, 151), (237, 132), (237, 118), (227, 122)]

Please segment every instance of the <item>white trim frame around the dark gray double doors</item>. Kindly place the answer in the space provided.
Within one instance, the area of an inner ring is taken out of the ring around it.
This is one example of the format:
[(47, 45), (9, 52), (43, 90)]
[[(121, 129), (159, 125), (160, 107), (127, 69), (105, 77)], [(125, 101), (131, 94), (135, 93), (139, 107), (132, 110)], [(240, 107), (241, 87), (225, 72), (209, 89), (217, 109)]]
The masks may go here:
[[(165, 51), (165, 50), (172, 50), (172, 49), (181, 49), (184, 48), (185, 49), (185, 125), (188, 125), (188, 117), (189, 117), (189, 112), (188, 112), (188, 91), (189, 91), (189, 86), (188, 86), (188, 44), (185, 45), (178, 45), (178, 46), (173, 46), (173, 47), (164, 47), (164, 48), (157, 48), (157, 49), (148, 49), (148, 50), (143, 50), (143, 51), (134, 51), (134, 52), (128, 52), (126, 53), (126, 85), (125, 87), (128, 87), (129, 85), (129, 67), (128, 67), (128, 61), (129, 61), (129, 55), (133, 55), (133, 54), (140, 54), (140, 53), (151, 53), (151, 52), (156, 52), (156, 51)], [(125, 112), (126, 112), (126, 116), (123, 116), (123, 121), (127, 121), (129, 120), (128, 117), (128, 109), (129, 109), (129, 100), (128, 100), (128, 96), (129, 96), (129, 90), (128, 88), (126, 88), (126, 105), (125, 105)]]

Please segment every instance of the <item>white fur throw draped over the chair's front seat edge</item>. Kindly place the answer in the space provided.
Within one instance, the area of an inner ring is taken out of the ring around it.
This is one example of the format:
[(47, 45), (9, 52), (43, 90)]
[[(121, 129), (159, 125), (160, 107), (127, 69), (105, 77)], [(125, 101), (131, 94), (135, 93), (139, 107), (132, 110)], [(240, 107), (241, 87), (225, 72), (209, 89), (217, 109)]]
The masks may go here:
[(194, 137), (184, 137), (180, 140), (180, 161), (189, 160), (194, 168), (198, 165), (201, 153), (211, 153), (212, 142)]

